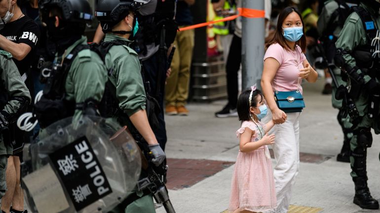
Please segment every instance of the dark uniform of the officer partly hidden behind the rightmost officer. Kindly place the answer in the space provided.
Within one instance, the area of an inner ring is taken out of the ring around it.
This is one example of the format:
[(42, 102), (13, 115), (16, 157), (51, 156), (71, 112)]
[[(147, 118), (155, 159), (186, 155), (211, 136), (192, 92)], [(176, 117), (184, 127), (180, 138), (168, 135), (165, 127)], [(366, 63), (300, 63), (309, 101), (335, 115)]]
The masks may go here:
[[(317, 30), (320, 37), (320, 40), (323, 42), (323, 48), (325, 49), (325, 55), (327, 58), (327, 62), (332, 62), (332, 57), (335, 55), (336, 48), (334, 46), (335, 41), (337, 40), (339, 33), (342, 30), (343, 23), (342, 19), (344, 17), (342, 16), (342, 12), (339, 10), (342, 10), (340, 8), (340, 4), (346, 5), (344, 0), (328, 0), (325, 2), (325, 5), (322, 9), (321, 14), (319, 15), (318, 22), (317, 22)], [(344, 8), (344, 7), (343, 7)], [(350, 150), (350, 140), (352, 137), (352, 131), (348, 127), (344, 127), (342, 114), (343, 114), (343, 108), (342, 108), (342, 100), (337, 100), (335, 97), (335, 94), (337, 92), (337, 87), (340, 85), (343, 85), (344, 87), (347, 85), (345, 81), (342, 80), (341, 76), (341, 69), (338, 67), (335, 67), (333, 69), (335, 78), (337, 80), (338, 85), (334, 86), (332, 89), (332, 96), (331, 101), (334, 108), (339, 109), (338, 113), (338, 122), (342, 127), (344, 140), (343, 140), (343, 146), (341, 153), (338, 154), (337, 160), (342, 162), (349, 162), (349, 150)], [(333, 82), (334, 84), (334, 82)]]

